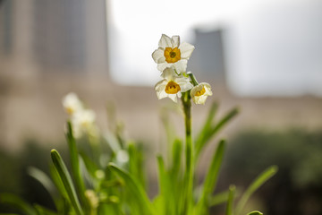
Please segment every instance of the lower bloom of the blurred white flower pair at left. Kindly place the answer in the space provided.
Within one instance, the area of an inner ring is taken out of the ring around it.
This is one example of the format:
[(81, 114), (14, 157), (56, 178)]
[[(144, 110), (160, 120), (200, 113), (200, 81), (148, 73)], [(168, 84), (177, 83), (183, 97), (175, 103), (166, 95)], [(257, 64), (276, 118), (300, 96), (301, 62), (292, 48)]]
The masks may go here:
[(72, 116), (72, 129), (76, 138), (79, 138), (82, 133), (96, 133), (95, 112), (91, 109), (83, 109), (76, 112)]

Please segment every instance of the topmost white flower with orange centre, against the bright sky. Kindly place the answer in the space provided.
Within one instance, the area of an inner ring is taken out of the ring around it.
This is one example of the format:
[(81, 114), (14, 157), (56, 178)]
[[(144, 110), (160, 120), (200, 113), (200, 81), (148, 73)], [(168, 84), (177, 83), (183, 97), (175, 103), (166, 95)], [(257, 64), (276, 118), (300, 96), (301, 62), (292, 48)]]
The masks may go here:
[(157, 50), (152, 53), (152, 58), (157, 63), (159, 71), (163, 72), (165, 68), (174, 66), (174, 69), (181, 73), (186, 71), (188, 59), (194, 48), (194, 46), (186, 42), (180, 44), (179, 36), (173, 36), (170, 39), (163, 34)]

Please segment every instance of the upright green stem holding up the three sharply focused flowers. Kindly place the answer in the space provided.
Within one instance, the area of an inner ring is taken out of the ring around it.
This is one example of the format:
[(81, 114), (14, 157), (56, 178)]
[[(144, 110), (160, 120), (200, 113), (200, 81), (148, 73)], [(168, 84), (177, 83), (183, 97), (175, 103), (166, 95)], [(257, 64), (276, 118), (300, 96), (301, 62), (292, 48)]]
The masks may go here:
[(191, 210), (192, 202), (192, 190), (193, 190), (193, 144), (191, 137), (191, 96), (190, 91), (183, 93), (182, 95), (182, 105), (184, 112), (184, 123), (185, 123), (185, 134), (186, 134), (186, 173), (185, 182), (187, 185), (186, 196), (185, 196), (185, 213), (189, 214)]

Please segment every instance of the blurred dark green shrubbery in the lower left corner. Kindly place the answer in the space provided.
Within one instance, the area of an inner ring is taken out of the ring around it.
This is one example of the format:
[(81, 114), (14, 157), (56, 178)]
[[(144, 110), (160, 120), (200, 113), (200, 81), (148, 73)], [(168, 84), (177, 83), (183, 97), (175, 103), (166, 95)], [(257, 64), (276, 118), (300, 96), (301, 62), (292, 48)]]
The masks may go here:
[[(64, 144), (55, 143), (62, 151)], [(50, 144), (43, 146), (34, 139), (23, 143), (23, 148), (8, 152), (0, 149), (0, 193), (13, 193), (27, 202), (38, 202), (47, 208), (55, 205), (47, 190), (28, 174), (28, 168), (35, 167), (49, 173)], [(64, 154), (64, 159), (69, 160)], [(1, 212), (16, 212), (13, 207), (0, 203)]]

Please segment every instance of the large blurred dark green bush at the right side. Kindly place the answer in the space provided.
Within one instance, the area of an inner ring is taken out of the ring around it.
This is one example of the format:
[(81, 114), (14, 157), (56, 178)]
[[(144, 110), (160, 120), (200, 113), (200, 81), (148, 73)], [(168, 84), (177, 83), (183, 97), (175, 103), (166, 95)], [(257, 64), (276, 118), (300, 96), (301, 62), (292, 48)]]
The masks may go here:
[(264, 214), (322, 214), (322, 131), (251, 130), (229, 142), (222, 185), (247, 185), (262, 168), (278, 174), (258, 190)]

